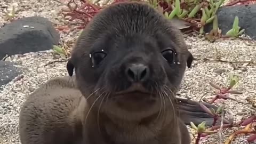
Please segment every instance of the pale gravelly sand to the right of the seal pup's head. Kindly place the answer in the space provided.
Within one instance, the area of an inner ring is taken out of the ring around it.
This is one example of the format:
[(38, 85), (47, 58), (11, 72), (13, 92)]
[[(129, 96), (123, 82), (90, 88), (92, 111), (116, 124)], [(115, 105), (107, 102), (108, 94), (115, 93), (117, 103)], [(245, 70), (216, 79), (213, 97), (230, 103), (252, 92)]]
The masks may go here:
[[(209, 43), (207, 41), (203, 41), (202, 39), (198, 39), (196, 37), (188, 37), (186, 38), (186, 42), (191, 46), (191, 52), (194, 54), (196, 59), (210, 59), (214, 60), (220, 57), (221, 60), (226, 61), (254, 61), (256, 62), (256, 45), (246, 45), (241, 40), (220, 40), (216, 43)], [(217, 51), (216, 51), (217, 50)], [(228, 85), (228, 76), (229, 74), (237, 74), (240, 79), (235, 90), (243, 92), (243, 94), (232, 94), (231, 97), (235, 98), (239, 101), (246, 102), (246, 98), (254, 98), (256, 95), (256, 65), (255, 63), (250, 65), (246, 62), (240, 63), (228, 63), (228, 62), (214, 62), (214, 61), (204, 61), (204, 60), (196, 60), (194, 61), (193, 68), (187, 69), (185, 73), (184, 82), (182, 85), (182, 89), (180, 93), (183, 95), (188, 95), (193, 100), (199, 100), (202, 95), (206, 92), (210, 92), (205, 94), (204, 98), (210, 100), (214, 95), (212, 92), (214, 91), (213, 87), (210, 86), (209, 82), (218, 84), (220, 86)], [(218, 69), (221, 69), (221, 73), (219, 73)], [(181, 95), (182, 95), (181, 94)], [(220, 105), (223, 100), (216, 101), (217, 105)], [(255, 114), (255, 110), (253, 111), (251, 108), (243, 105), (242, 103), (238, 103), (236, 101), (227, 100), (226, 110), (228, 111), (227, 117), (228, 119), (233, 118), (235, 122), (241, 120), (244, 116), (237, 115), (238, 112), (253, 113)], [(229, 135), (236, 129), (228, 130), (222, 134), (222, 142), (229, 137)], [(239, 136), (234, 139), (233, 143), (246, 143), (247, 136)], [(202, 143), (218, 143), (219, 135), (213, 134), (201, 140)], [(255, 144), (255, 143), (254, 143)]]

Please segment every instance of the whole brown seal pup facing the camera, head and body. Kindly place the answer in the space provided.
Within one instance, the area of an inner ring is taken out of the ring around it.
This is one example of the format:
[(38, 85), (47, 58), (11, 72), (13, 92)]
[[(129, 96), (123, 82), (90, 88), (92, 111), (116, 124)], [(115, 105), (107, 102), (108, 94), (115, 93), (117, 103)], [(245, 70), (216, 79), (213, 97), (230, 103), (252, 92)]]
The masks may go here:
[(76, 80), (53, 79), (29, 95), (21, 142), (188, 144), (175, 93), (192, 61), (180, 31), (153, 7), (111, 5), (77, 40), (67, 63)]

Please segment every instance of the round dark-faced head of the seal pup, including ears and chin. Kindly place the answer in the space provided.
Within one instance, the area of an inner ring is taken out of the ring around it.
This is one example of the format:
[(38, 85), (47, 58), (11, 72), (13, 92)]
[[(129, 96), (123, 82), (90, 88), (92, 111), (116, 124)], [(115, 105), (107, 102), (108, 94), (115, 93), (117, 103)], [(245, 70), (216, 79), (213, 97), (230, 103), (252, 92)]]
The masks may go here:
[(79, 90), (101, 113), (126, 120), (173, 108), (193, 56), (179, 29), (153, 7), (122, 2), (86, 26), (68, 61)]

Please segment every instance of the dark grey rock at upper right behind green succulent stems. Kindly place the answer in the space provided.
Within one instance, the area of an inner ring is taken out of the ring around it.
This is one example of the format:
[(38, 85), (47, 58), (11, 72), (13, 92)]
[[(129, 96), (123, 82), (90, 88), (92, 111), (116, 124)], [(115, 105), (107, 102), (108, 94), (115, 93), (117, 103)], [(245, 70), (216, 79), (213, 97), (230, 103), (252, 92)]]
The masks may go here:
[[(227, 31), (233, 26), (235, 17), (239, 18), (239, 27), (245, 29), (245, 34), (256, 39), (256, 4), (223, 6), (217, 12), (219, 28), (222, 35), (226, 35)], [(212, 23), (205, 26), (205, 32), (209, 33), (212, 29)]]

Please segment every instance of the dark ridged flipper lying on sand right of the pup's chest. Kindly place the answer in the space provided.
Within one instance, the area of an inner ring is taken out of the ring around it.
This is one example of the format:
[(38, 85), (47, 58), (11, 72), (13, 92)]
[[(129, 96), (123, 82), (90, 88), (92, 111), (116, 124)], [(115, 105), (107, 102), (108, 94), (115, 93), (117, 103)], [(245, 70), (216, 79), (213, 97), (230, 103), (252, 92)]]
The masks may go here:
[[(178, 101), (178, 108), (179, 108), (179, 114), (180, 118), (186, 125), (190, 125), (190, 122), (193, 122), (195, 125), (198, 125), (202, 122), (206, 122), (205, 125), (211, 126), (213, 123), (213, 117), (209, 114), (207, 114), (200, 106), (199, 103), (193, 100), (188, 99), (181, 99), (177, 98)], [(215, 111), (218, 109), (218, 107), (203, 102), (203, 104), (207, 108), (213, 108)], [(221, 122), (221, 119), (219, 118), (217, 121), (217, 125), (219, 125)], [(226, 119), (224, 122), (228, 122)]]

